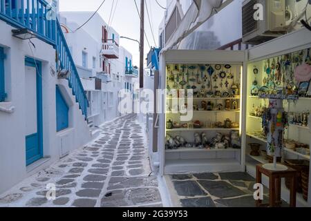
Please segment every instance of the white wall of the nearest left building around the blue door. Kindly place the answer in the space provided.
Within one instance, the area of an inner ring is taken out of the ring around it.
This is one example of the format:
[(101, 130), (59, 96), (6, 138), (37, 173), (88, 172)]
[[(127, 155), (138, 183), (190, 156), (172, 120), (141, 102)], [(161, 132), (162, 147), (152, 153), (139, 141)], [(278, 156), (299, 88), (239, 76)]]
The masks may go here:
[[(7, 55), (5, 72), (8, 79), (8, 100), (5, 104), (0, 103), (0, 106), (15, 107), (13, 113), (0, 111), (0, 193), (3, 193), (59, 159), (55, 113), (55, 84), (59, 82), (50, 72), (50, 68), (55, 70), (53, 46), (32, 39), (36, 48), (30, 50), (32, 46), (28, 41), (12, 37), (12, 26), (0, 21), (0, 30), (0, 46), (5, 48)], [(26, 167), (25, 57), (35, 57), (42, 63), (43, 146), (44, 157), (48, 157), (49, 160), (39, 167), (35, 167), (35, 164)], [(68, 81), (66, 83), (68, 88)], [(71, 148), (80, 148), (91, 140), (87, 133), (88, 126), (76, 103), (70, 106), (70, 126), (74, 127)]]

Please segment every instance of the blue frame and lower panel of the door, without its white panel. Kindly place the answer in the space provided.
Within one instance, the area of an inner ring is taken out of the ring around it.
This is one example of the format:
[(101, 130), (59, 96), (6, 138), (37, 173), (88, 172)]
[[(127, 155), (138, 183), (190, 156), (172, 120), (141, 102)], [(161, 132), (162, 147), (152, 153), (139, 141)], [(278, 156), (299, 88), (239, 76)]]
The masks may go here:
[(26, 166), (28, 166), (43, 157), (42, 66), (41, 61), (30, 57), (25, 58), (25, 66), (30, 66), (37, 70), (37, 133), (26, 136)]

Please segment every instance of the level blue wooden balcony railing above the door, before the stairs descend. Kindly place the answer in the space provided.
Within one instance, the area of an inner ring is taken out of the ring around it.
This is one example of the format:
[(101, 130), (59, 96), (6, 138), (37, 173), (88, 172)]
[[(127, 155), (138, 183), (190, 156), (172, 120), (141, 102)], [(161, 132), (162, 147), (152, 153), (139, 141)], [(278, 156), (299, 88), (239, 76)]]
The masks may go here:
[(16, 28), (28, 28), (52, 45), (56, 39), (55, 13), (44, 0), (0, 0), (0, 19)]

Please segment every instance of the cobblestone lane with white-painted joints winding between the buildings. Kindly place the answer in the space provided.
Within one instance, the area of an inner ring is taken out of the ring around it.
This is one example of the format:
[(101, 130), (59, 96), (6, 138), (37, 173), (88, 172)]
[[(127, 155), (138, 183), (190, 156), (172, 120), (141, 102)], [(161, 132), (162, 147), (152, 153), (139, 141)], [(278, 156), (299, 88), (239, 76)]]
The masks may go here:
[[(144, 131), (126, 115), (104, 124), (100, 137), (0, 195), (0, 206), (162, 206)], [(46, 185), (56, 185), (56, 199)]]

